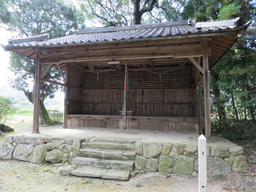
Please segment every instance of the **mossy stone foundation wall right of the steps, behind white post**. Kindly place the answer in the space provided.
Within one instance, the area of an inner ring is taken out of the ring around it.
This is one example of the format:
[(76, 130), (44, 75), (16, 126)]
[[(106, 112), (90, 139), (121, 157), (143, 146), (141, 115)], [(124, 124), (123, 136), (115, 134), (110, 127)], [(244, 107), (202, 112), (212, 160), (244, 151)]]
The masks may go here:
[[(180, 143), (136, 143), (135, 169), (146, 172), (198, 175), (198, 146)], [(243, 148), (207, 146), (207, 176), (248, 169)]]

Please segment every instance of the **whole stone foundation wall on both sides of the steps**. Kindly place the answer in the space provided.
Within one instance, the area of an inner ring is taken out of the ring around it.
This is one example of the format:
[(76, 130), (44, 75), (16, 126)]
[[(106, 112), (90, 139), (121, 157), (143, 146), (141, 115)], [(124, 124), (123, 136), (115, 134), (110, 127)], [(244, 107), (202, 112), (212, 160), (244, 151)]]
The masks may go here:
[[(0, 149), (0, 159), (14, 158), (38, 164), (71, 164), (82, 142), (87, 139), (6, 135), (5, 140)], [(135, 143), (135, 151), (136, 170), (194, 176), (198, 174), (197, 145), (139, 141)], [(207, 146), (207, 176), (244, 169), (248, 169), (248, 165), (242, 147)]]

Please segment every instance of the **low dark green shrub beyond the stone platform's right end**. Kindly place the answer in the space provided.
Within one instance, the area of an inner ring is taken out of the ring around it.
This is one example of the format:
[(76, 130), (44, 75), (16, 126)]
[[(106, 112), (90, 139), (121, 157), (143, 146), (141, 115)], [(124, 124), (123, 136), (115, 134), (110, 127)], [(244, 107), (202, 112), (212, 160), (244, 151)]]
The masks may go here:
[(216, 121), (211, 123), (213, 132), (219, 133), (223, 138), (230, 141), (244, 140), (256, 136), (256, 124), (251, 121), (227, 119), (219, 122), (219, 129)]

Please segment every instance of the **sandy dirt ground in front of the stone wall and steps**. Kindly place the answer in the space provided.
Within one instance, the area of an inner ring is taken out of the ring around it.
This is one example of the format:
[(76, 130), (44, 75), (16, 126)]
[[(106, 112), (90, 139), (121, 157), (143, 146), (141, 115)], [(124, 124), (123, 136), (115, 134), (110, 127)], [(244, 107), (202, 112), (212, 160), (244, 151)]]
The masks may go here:
[[(129, 181), (60, 176), (60, 167), (30, 162), (0, 161), (0, 191), (78, 192), (78, 191), (171, 191), (196, 192), (198, 178), (175, 174), (139, 173)], [(134, 175), (134, 174), (133, 174)], [(208, 178), (208, 192), (256, 191), (256, 171), (247, 170), (228, 176)]]

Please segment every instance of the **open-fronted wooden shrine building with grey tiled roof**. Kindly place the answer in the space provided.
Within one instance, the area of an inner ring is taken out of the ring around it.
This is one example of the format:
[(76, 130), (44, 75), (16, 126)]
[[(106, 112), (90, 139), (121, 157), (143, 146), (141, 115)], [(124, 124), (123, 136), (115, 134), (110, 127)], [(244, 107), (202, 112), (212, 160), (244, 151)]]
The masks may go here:
[[(2, 46), (35, 60), (34, 133), (41, 82), (65, 86), (65, 128), (202, 133), (203, 83), (210, 139), (209, 69), (250, 23), (181, 20), (9, 39)], [(59, 68), (63, 82), (44, 79), (50, 67)]]

